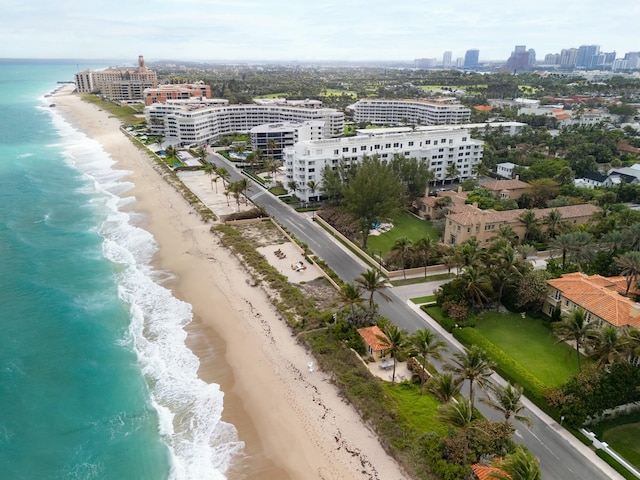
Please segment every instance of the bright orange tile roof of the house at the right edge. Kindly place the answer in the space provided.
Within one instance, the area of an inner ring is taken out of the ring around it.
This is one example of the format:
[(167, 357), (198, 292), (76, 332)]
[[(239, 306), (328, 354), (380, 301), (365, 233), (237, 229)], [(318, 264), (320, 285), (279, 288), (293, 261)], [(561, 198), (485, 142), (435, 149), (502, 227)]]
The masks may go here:
[(611, 325), (640, 328), (640, 303), (620, 295), (617, 292), (618, 281), (617, 277), (608, 279), (600, 275), (588, 276), (576, 272), (547, 280), (547, 283), (560, 290), (562, 296), (569, 301)]

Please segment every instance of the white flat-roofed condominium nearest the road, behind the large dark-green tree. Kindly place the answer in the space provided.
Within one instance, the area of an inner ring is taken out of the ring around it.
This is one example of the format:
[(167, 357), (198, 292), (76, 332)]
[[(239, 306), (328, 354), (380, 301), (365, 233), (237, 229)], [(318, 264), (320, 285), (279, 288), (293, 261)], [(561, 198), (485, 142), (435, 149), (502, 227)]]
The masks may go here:
[[(394, 155), (417, 158), (429, 166), (436, 180), (450, 178), (447, 169), (455, 165), (459, 178), (473, 176), (473, 167), (482, 159), (484, 142), (471, 138), (464, 129), (429, 129), (394, 132), (393, 129), (372, 130), (368, 135), (316, 141), (299, 141), (284, 150), (287, 187), (296, 182), (295, 194), (303, 201), (322, 191), (322, 171), (335, 169), (341, 160), (347, 165), (362, 161), (364, 155), (378, 155), (383, 161)], [(307, 186), (317, 185), (315, 192)], [(293, 192), (292, 192), (293, 193)]]

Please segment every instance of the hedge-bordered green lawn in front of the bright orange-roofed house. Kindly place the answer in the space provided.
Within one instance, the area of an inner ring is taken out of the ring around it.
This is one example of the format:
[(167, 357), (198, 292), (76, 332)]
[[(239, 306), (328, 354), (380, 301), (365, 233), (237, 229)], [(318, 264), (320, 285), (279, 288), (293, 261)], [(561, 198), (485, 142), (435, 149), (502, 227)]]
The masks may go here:
[(478, 318), (476, 328), (549, 387), (562, 385), (578, 372), (575, 350), (557, 343), (542, 320), (487, 312)]

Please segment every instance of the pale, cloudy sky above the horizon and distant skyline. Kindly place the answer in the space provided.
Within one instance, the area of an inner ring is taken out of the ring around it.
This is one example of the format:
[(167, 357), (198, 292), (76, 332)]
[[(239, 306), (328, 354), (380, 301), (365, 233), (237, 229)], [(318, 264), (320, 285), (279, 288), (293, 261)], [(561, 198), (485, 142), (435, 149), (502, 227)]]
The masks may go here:
[(638, 0), (0, 0), (0, 58), (505, 60), (640, 51)]

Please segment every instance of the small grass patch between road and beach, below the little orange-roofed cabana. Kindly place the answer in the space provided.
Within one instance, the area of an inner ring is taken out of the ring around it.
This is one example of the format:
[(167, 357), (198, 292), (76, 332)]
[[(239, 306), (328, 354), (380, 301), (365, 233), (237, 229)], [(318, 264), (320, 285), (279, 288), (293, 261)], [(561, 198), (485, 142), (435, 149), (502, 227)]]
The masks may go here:
[(384, 391), (395, 404), (398, 420), (420, 432), (447, 435), (447, 426), (436, 420), (440, 402), (430, 393), (420, 394), (420, 386), (407, 383), (384, 383)]

